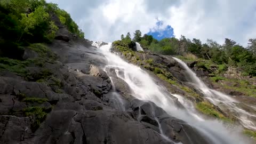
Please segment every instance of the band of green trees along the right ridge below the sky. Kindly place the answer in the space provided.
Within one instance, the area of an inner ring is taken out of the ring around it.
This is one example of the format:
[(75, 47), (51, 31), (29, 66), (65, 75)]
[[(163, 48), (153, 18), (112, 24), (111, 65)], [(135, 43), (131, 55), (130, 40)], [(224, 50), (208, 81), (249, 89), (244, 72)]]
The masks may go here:
[[(130, 43), (130, 33), (128, 38), (122, 36), (121, 39)], [(228, 38), (225, 39), (223, 45), (212, 39), (207, 39), (203, 44), (200, 39), (190, 40), (185, 36), (181, 36), (180, 39), (172, 37), (157, 41), (151, 35), (141, 37), (141, 32), (136, 30), (133, 41), (139, 42), (143, 49), (149, 49), (154, 53), (178, 55), (178, 58), (186, 62), (197, 60), (197, 66), (203, 69), (218, 69), (216, 71), (218, 74), (226, 71), (228, 66), (233, 66), (242, 69), (244, 75), (256, 76), (256, 39), (249, 39), (250, 43), (247, 47)]]

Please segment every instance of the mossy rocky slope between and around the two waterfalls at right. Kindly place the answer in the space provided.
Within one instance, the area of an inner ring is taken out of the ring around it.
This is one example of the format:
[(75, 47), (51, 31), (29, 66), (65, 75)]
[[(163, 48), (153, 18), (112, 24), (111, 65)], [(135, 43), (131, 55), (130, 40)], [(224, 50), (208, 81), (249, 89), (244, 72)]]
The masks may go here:
[[(137, 52), (131, 45), (126, 45), (122, 41), (113, 43), (113, 51), (119, 53), (123, 59), (148, 70), (148, 73), (155, 77), (155, 81), (168, 87), (170, 92), (183, 95), (186, 99), (193, 101), (196, 109), (207, 116), (205, 118), (218, 118), (228, 123), (238, 124), (237, 113), (223, 106), (220, 108), (213, 105), (209, 99), (206, 99), (204, 94), (191, 84), (191, 77), (186, 74), (186, 70), (171, 56)], [(186, 61), (186, 58), (183, 60)], [(202, 60), (189, 60), (187, 65), (203, 79), (207, 86), (231, 95), (239, 101), (235, 104), (237, 108), (248, 111), (252, 114), (251, 116), (255, 115), (255, 78), (243, 77), (241, 73), (234, 70), (220, 72), (217, 66)], [(251, 120), (255, 122), (256, 119), (252, 117)], [(245, 133), (248, 131), (250, 130), (245, 130)], [(255, 138), (255, 132), (250, 131), (250, 133), (249, 136)]]

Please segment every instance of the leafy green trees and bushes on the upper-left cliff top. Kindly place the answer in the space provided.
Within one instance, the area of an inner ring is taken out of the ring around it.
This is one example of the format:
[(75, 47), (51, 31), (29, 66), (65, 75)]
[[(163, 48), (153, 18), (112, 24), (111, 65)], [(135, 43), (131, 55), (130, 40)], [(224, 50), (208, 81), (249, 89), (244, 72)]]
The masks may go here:
[(52, 21), (57, 15), (68, 30), (84, 37), (70, 15), (57, 4), (44, 0), (0, 1), (0, 57), (22, 59), (23, 49), (31, 43), (51, 43), (58, 27)]

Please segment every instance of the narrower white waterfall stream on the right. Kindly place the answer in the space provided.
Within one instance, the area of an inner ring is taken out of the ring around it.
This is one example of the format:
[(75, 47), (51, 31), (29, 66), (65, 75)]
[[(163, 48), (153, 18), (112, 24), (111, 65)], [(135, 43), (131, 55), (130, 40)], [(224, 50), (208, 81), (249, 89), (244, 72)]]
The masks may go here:
[[(251, 130), (256, 130), (256, 124), (253, 122), (256, 120), (256, 115), (250, 114), (249, 112), (237, 107), (236, 104), (239, 103), (239, 101), (231, 98), (229, 95), (209, 89), (209, 87), (207, 87), (204, 82), (196, 76), (194, 71), (192, 71), (185, 62), (177, 58), (174, 59), (186, 69), (194, 85), (197, 87), (197, 89), (201, 90), (205, 94), (205, 97), (209, 99), (210, 102), (219, 106), (220, 108), (228, 108), (229, 111), (235, 114), (234, 116), (239, 119), (239, 122), (244, 127)], [(253, 109), (253, 107), (251, 107), (251, 109)]]

